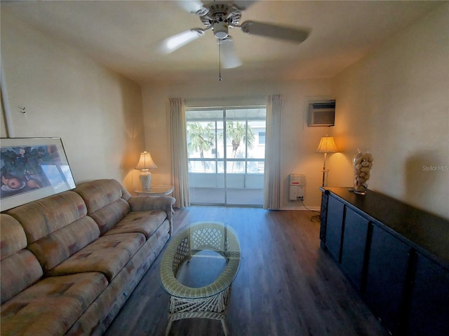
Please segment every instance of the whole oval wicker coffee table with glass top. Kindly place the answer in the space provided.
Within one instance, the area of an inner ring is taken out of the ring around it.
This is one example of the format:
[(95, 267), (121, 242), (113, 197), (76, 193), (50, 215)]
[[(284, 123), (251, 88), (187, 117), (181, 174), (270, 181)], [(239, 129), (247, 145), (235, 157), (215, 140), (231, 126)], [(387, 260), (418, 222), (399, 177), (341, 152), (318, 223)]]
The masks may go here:
[(239, 266), (240, 243), (229, 225), (203, 221), (177, 232), (161, 260), (161, 283), (170, 294), (166, 335), (181, 318), (221, 320), (228, 335), (225, 311)]

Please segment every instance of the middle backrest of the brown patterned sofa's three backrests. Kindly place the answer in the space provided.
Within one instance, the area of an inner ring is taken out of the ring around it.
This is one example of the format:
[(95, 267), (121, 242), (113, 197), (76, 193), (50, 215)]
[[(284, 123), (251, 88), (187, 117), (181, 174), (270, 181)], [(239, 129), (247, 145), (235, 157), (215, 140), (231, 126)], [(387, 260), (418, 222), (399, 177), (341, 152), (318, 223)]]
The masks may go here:
[(44, 273), (100, 236), (98, 225), (86, 216), (86, 204), (73, 191), (24, 204), (6, 214), (22, 225), (27, 248)]

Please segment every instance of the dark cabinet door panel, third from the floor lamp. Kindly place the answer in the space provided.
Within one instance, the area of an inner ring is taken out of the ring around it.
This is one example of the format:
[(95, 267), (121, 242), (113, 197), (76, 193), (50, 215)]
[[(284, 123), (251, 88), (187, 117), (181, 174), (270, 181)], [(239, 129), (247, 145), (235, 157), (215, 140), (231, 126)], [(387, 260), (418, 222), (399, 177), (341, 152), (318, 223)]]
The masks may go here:
[(410, 247), (377, 225), (370, 245), (366, 300), (394, 335), (399, 330)]

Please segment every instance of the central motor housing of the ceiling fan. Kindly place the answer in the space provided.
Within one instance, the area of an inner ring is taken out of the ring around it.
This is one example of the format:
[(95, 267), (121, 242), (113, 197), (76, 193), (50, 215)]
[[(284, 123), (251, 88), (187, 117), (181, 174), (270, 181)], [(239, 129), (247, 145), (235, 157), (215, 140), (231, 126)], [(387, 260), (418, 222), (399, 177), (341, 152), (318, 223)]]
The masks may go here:
[(201, 15), (200, 19), (206, 27), (212, 27), (216, 38), (228, 36), (229, 25), (238, 25), (241, 19), (241, 10), (232, 3), (214, 2), (208, 5), (209, 11)]

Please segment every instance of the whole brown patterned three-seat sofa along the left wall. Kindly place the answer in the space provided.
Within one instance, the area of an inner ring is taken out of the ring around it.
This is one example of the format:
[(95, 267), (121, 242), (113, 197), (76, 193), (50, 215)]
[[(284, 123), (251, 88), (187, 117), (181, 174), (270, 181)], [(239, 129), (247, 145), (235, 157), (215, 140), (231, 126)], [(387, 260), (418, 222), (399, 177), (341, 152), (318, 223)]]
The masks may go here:
[(1, 335), (101, 335), (168, 241), (174, 202), (102, 179), (4, 211)]

